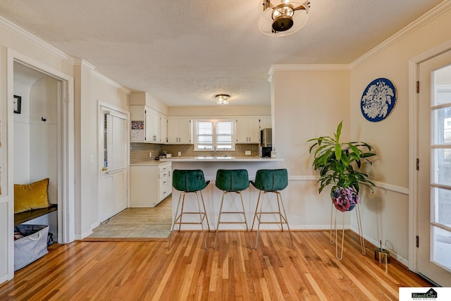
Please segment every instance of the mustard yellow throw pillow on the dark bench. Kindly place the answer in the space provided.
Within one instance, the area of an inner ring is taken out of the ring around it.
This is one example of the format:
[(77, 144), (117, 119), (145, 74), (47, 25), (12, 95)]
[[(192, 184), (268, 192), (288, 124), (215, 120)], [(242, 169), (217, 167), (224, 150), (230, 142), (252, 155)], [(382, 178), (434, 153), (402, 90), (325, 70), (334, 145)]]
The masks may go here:
[(14, 213), (50, 207), (49, 178), (28, 185), (14, 184)]

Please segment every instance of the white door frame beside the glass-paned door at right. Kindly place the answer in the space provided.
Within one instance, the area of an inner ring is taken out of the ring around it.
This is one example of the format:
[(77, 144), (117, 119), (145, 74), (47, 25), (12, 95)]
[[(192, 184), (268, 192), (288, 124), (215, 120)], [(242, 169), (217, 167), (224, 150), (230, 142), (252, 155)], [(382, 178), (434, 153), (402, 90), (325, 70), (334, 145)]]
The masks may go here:
[[(416, 158), (418, 150), (418, 126), (419, 126), (419, 94), (416, 93), (416, 82), (419, 80), (419, 64), (428, 59), (443, 54), (451, 49), (451, 41), (439, 45), (424, 54), (415, 56), (409, 60), (409, 269), (418, 272), (416, 258), (416, 235), (418, 235), (418, 204), (419, 174), (416, 172)], [(420, 87), (421, 88), (421, 87)], [(421, 162), (420, 162), (421, 164)]]

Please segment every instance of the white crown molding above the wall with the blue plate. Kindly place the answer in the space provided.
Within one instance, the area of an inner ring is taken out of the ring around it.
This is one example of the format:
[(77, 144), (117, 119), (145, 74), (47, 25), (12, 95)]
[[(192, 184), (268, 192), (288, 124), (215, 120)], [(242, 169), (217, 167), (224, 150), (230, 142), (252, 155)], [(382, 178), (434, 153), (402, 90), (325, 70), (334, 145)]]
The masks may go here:
[(417, 18), (412, 23), (407, 25), (406, 27), (402, 28), (399, 32), (395, 33), (395, 35), (389, 37), (381, 44), (378, 44), (378, 46), (374, 47), (370, 51), (366, 52), (363, 56), (359, 57), (359, 59), (355, 60), (354, 62), (350, 63), (350, 69), (354, 69), (357, 66), (361, 65), (365, 61), (368, 61), (373, 56), (376, 56), (376, 54), (379, 54), (381, 51), (387, 49), (391, 45), (398, 42), (400, 39), (406, 37), (407, 35), (411, 34), (415, 30), (419, 29), (420, 27), (426, 25), (429, 21), (433, 20), (434, 18), (437, 18), (442, 13), (445, 13), (448, 9), (451, 8), (451, 1), (445, 0), (442, 3), (438, 4), (434, 8), (432, 8), (430, 11), (425, 13), (423, 16)]

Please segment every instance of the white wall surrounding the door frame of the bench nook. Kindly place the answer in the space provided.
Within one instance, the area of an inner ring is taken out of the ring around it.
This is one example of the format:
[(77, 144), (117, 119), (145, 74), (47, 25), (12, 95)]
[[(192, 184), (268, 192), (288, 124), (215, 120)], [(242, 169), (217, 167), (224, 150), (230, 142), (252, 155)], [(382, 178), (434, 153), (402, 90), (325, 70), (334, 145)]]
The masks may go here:
[[(16, 33), (15, 33), (16, 32)], [(6, 72), (0, 73), (0, 168), (1, 168), (1, 195), (0, 195), (0, 283), (13, 276), (13, 63), (8, 59), (13, 51), (27, 56), (30, 61), (35, 61), (58, 73), (72, 76), (72, 64), (67, 56), (51, 47), (43, 47), (44, 43), (35, 40), (27, 40), (20, 35), (20, 29), (0, 18), (0, 69)], [(49, 50), (51, 49), (51, 50)], [(11, 111), (10, 111), (11, 110)], [(9, 135), (9, 136), (8, 136)]]

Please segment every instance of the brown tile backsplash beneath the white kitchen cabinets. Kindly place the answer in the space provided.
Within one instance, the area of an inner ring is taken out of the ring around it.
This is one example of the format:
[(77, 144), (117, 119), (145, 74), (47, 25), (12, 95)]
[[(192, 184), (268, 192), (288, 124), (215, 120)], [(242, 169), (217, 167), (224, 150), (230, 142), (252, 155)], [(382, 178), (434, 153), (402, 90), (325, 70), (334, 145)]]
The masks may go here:
[[(130, 163), (137, 163), (140, 161), (147, 161), (149, 159), (155, 159), (159, 156), (163, 150), (166, 150), (168, 154), (177, 156), (178, 152), (182, 156), (213, 156), (213, 151), (196, 151), (193, 150), (193, 145), (156, 145), (153, 143), (130, 143)], [(250, 151), (251, 156), (259, 155), (259, 144), (254, 145), (235, 145), (235, 151), (217, 151), (216, 156), (245, 156), (245, 151)], [(149, 157), (149, 153), (152, 152), (152, 158)]]

